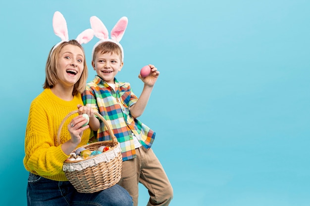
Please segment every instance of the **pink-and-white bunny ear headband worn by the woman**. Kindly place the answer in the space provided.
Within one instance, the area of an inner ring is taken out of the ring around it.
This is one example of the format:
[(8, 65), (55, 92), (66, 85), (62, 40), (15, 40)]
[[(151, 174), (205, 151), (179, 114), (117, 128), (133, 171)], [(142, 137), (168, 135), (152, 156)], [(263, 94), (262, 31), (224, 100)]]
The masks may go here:
[[(56, 11), (54, 13), (52, 25), (53, 25), (55, 35), (60, 37), (61, 39), (61, 41), (57, 43), (56, 45), (54, 45), (54, 47), (52, 48), (52, 52), (53, 52), (53, 50), (60, 43), (64, 41), (69, 41), (69, 36), (68, 36), (66, 20), (64, 19), (63, 15), (59, 11)], [(82, 43), (87, 43), (91, 41), (93, 37), (94, 37), (94, 31), (92, 29), (86, 29), (81, 34), (79, 34), (75, 40), (79, 42), (80, 44), (82, 44)]]

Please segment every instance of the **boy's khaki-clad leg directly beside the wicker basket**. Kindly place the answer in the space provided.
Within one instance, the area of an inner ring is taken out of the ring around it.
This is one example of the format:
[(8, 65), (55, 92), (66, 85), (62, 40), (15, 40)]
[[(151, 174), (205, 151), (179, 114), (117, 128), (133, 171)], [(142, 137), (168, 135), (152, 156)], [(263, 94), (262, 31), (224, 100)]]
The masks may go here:
[[(137, 149), (136, 152), (138, 152)], [(128, 191), (132, 197), (134, 206), (138, 206), (140, 163), (140, 154), (137, 154), (137, 158), (124, 161), (122, 165), (122, 177), (118, 182), (120, 186)]]

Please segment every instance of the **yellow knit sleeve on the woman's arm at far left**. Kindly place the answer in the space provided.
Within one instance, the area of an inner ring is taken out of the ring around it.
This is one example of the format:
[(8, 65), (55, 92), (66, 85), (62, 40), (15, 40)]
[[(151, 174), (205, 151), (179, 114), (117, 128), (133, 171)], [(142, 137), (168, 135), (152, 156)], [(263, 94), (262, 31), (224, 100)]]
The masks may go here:
[(42, 105), (31, 104), (25, 133), (24, 165), (28, 171), (42, 176), (63, 172), (62, 165), (68, 157), (60, 145), (55, 145), (51, 121)]

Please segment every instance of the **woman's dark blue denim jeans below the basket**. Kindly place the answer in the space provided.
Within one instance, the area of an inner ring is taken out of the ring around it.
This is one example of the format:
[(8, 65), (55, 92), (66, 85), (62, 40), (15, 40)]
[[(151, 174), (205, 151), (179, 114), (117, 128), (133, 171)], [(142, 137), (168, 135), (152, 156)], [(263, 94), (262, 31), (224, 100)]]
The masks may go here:
[(69, 181), (54, 181), (29, 172), (28, 206), (132, 206), (129, 193), (114, 185), (96, 193), (79, 193)]

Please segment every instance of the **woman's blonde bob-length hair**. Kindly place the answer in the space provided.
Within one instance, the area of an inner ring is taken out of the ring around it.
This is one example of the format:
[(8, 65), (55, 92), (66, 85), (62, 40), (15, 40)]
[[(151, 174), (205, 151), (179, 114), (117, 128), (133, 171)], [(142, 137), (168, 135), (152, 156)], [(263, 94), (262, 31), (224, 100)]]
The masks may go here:
[[(84, 69), (83, 69), (80, 79), (74, 84), (73, 92), (72, 92), (73, 95), (77, 95), (78, 93), (82, 93), (85, 89), (85, 85), (86, 85), (87, 77), (88, 77), (88, 69), (87, 69), (84, 49), (81, 46), (81, 44), (76, 40), (63, 41), (53, 51), (52, 51), (53, 48), (51, 49), (49, 56), (48, 56), (47, 63), (46, 63), (46, 67), (45, 67), (46, 78), (43, 84), (43, 88), (44, 89), (52, 88), (54, 85), (57, 84), (59, 80), (57, 77), (57, 63), (58, 63), (59, 52), (64, 46), (69, 45), (69, 44), (80, 47), (84, 55)], [(52, 52), (52, 55), (51, 55), (51, 52)]]

